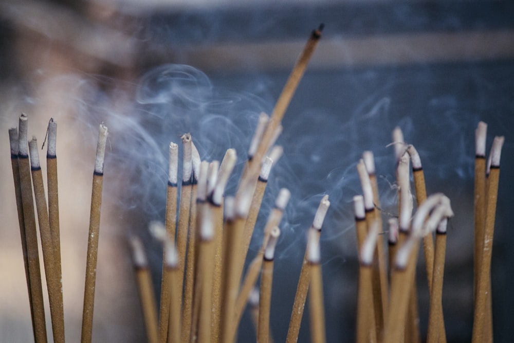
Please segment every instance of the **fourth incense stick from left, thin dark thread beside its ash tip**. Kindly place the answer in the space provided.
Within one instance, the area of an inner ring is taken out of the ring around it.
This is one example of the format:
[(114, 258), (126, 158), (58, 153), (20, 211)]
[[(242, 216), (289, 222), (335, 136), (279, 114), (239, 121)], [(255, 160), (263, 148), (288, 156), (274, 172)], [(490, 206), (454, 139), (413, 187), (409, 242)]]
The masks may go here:
[[(62, 299), (61, 233), (59, 228), (59, 187), (57, 183), (57, 122), (50, 118), (48, 123), (48, 149), (46, 152), (46, 175), (48, 184), (48, 219), (53, 242), (53, 257), (59, 273), (59, 296)], [(64, 337), (64, 336), (63, 336)]]

